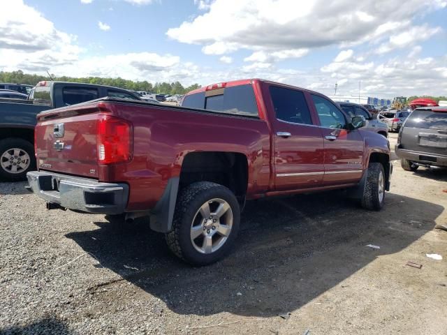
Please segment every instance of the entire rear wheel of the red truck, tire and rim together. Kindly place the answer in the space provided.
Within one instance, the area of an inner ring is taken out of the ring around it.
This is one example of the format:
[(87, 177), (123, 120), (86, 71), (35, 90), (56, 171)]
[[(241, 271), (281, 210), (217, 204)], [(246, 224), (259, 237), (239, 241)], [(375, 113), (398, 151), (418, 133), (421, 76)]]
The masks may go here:
[(173, 229), (166, 234), (175, 255), (192, 265), (209, 265), (231, 250), (239, 230), (240, 207), (225, 186), (201, 181), (177, 199)]

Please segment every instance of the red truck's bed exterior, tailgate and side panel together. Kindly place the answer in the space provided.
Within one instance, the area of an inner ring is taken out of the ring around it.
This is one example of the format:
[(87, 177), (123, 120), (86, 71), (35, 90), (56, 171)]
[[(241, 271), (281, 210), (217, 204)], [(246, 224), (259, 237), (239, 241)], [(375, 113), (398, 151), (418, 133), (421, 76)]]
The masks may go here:
[[(129, 162), (98, 164), (101, 149), (96, 132), (104, 117), (131, 122)], [(55, 137), (54, 128), (60, 124), (64, 124), (64, 135)], [(128, 211), (154, 205), (168, 181), (179, 177), (182, 161), (191, 151), (244, 153), (256, 180), (249, 185), (251, 193), (265, 191), (269, 184), (270, 133), (267, 123), (257, 117), (100, 98), (38, 114), (36, 138), (40, 170), (101, 182), (125, 181), (131, 190)]]

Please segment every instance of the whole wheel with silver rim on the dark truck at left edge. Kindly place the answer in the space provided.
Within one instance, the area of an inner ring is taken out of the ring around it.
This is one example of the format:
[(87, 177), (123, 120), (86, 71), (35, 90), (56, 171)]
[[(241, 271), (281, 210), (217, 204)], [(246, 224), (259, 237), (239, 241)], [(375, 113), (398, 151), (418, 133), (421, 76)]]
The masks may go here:
[(23, 180), (27, 172), (35, 168), (33, 144), (17, 137), (0, 140), (0, 178)]

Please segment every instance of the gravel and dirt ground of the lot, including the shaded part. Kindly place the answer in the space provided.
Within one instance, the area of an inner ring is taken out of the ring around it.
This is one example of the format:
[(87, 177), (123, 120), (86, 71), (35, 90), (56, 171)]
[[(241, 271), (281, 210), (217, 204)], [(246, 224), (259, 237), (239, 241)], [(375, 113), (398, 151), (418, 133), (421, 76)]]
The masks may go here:
[(395, 161), (379, 213), (342, 192), (251, 202), (236, 250), (203, 268), (145, 221), (47, 211), (0, 183), (0, 332), (447, 334), (446, 181)]

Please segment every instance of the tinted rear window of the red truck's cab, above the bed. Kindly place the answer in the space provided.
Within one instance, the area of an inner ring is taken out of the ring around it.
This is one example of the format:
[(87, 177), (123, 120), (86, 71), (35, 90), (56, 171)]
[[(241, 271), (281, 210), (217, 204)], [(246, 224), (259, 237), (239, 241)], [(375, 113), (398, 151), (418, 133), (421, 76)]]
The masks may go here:
[(251, 84), (190, 94), (184, 97), (182, 107), (258, 117), (258, 106)]

